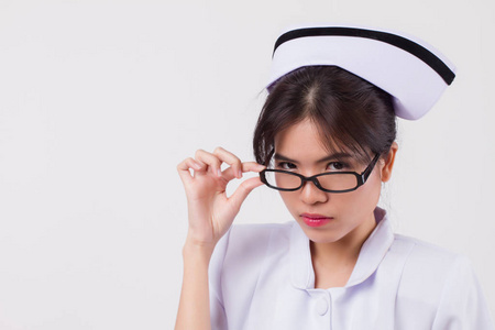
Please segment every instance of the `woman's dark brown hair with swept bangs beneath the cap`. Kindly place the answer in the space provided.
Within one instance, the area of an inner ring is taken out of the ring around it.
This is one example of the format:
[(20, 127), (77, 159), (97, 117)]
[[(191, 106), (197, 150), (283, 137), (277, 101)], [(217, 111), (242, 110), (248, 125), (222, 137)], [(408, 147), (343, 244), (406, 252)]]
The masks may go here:
[(360, 161), (388, 152), (396, 138), (389, 94), (337, 66), (307, 66), (271, 89), (254, 131), (256, 162), (268, 165), (275, 136), (310, 119), (329, 151), (346, 150)]

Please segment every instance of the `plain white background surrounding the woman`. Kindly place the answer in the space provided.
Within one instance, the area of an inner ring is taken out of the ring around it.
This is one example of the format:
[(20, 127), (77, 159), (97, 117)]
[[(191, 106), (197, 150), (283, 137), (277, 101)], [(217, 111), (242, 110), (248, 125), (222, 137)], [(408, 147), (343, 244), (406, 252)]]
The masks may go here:
[[(186, 201), (176, 164), (252, 160), (273, 43), (294, 23), (405, 31), (458, 77), (400, 150), (397, 232), (468, 255), (495, 311), (495, 4), (0, 1), (0, 329), (172, 329)], [(289, 220), (274, 191), (239, 222)]]

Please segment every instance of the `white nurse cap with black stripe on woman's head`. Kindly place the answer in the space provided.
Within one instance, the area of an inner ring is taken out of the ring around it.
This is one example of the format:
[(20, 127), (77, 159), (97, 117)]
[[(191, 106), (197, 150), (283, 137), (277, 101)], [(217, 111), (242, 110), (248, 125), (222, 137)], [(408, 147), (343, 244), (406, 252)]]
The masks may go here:
[(422, 41), (350, 26), (300, 28), (275, 43), (268, 91), (286, 74), (316, 65), (339, 66), (393, 96), (397, 117), (425, 116), (452, 84), (454, 66)]

